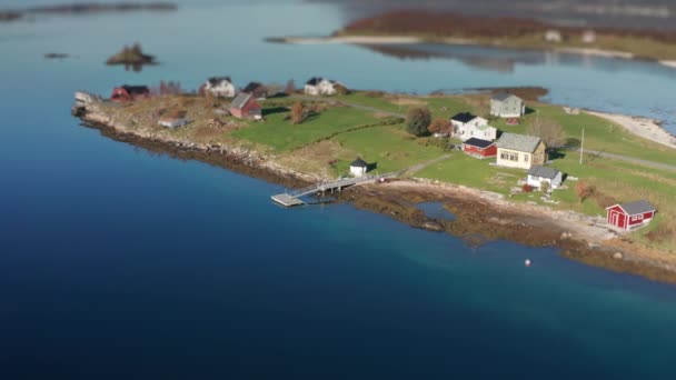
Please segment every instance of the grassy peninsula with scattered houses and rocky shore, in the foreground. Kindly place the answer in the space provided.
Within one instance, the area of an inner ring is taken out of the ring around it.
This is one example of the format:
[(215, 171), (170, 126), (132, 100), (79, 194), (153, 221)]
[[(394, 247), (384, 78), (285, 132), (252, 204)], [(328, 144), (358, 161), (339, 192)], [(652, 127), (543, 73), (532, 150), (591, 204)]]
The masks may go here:
[[(115, 101), (78, 93), (73, 113), (113, 139), (289, 188), (396, 172), (338, 200), (470, 243), (555, 246), (592, 264), (676, 282), (676, 139), (652, 121), (544, 103), (531, 89), (411, 96), (347, 91), (321, 78), (302, 91), (257, 84), (257, 96), (233, 99), (218, 96), (229, 93), (229, 77), (211, 78), (201, 94), (125, 86)], [(510, 162), (533, 141), (528, 162)], [(545, 183), (549, 172), (563, 176)], [(456, 219), (426, 216), (416, 207), (424, 201), (441, 202)], [(636, 201), (657, 210), (645, 227), (609, 223), (607, 208)]]

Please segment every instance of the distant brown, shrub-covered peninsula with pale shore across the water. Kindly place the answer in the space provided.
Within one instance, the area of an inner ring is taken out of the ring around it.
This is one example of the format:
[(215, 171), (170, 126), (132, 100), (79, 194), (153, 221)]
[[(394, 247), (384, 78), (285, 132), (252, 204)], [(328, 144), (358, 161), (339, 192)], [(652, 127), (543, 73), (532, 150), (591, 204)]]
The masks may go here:
[(466, 16), (444, 11), (396, 10), (352, 21), (330, 37), (286, 37), (274, 42), (475, 44), (551, 50), (675, 66), (676, 33), (654, 30), (585, 28), (515, 17)]

